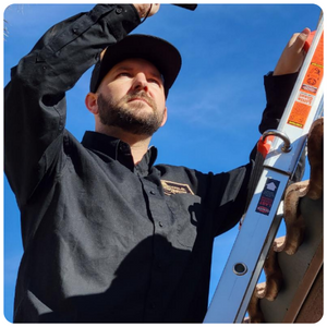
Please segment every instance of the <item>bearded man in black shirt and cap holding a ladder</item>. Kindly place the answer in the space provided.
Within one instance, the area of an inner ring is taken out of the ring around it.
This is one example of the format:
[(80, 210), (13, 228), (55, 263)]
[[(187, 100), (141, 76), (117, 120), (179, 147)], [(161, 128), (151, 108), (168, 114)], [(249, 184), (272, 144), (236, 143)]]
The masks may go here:
[[(181, 60), (164, 40), (126, 35), (158, 9), (96, 5), (48, 31), (12, 70), (4, 158), (24, 244), (15, 322), (204, 318), (213, 241), (241, 218), (253, 160), (216, 175), (154, 166), (149, 141)], [(266, 77), (262, 132), (277, 126), (308, 32)], [(99, 57), (85, 100), (96, 132), (81, 144), (64, 129), (65, 92)]]

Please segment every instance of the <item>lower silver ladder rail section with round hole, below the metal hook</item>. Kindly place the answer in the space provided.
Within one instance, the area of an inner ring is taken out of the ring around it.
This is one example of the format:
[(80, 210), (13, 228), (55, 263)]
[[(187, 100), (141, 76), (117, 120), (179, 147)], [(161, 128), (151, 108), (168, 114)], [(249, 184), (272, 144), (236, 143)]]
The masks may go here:
[[(278, 175), (279, 173), (276, 171), (264, 169), (264, 178), (259, 180), (249, 211), (255, 210), (259, 201), (259, 194), (267, 184), (267, 181), (276, 180)], [(242, 322), (269, 245), (274, 241), (279, 227), (280, 217), (279, 220), (274, 219), (275, 215), (272, 215), (272, 211), (277, 211), (278, 204), (283, 195), (283, 187), (286, 187), (288, 181), (289, 175), (283, 175), (279, 180), (280, 187), (278, 187), (278, 193), (275, 197), (276, 202), (271, 207), (269, 217), (262, 219), (261, 214), (256, 213), (254, 217), (251, 217), (252, 219), (245, 218), (218, 282), (204, 323)], [(270, 237), (267, 239), (268, 234)], [(258, 243), (262, 245), (258, 245)], [(257, 252), (257, 255), (253, 255), (254, 252)], [(234, 267), (240, 264), (244, 265), (244, 270), (246, 270), (244, 275), (233, 272), (235, 270)]]

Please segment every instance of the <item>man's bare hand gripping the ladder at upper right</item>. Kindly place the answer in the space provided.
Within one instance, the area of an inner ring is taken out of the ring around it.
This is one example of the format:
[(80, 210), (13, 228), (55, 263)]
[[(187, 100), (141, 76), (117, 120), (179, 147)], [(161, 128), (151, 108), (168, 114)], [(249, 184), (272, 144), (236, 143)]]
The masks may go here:
[(284, 75), (299, 72), (305, 58), (303, 46), (311, 31), (305, 27), (295, 33), (283, 49), (272, 75)]

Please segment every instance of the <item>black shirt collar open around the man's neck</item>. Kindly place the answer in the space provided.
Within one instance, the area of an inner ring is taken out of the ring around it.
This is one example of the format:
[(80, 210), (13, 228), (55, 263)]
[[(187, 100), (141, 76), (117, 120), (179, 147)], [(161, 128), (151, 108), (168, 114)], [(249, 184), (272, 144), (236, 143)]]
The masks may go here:
[(145, 174), (149, 171), (149, 169), (154, 166), (158, 155), (157, 148), (152, 146), (135, 167), (129, 144), (120, 141), (119, 138), (92, 131), (85, 132), (82, 140), (82, 145), (93, 152), (118, 160), (132, 171), (136, 169), (142, 174)]

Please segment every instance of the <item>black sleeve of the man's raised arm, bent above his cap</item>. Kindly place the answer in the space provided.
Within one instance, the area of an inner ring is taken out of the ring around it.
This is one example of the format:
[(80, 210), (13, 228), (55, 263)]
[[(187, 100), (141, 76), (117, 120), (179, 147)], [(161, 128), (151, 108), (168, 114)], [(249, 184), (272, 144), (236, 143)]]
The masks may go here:
[(11, 70), (4, 89), (4, 170), (20, 206), (62, 160), (65, 92), (107, 46), (138, 24), (132, 4), (98, 4), (51, 27)]

